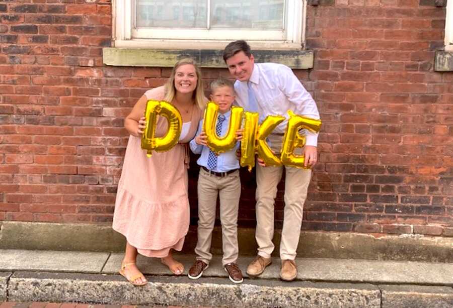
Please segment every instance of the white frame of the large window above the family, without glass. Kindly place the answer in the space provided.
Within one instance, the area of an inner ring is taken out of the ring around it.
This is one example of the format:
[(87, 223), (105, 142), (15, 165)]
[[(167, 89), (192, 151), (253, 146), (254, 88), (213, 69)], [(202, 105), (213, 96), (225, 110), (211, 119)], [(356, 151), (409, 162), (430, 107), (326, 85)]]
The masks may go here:
[[(284, 31), (237, 29), (134, 29), (133, 0), (113, 0), (114, 47), (223, 48), (225, 42), (246, 39), (254, 48), (300, 49), (305, 41), (306, 0), (287, 0)], [(209, 11), (209, 7), (207, 8)], [(176, 31), (175, 31), (176, 30)], [(185, 38), (185, 39), (183, 39)]]

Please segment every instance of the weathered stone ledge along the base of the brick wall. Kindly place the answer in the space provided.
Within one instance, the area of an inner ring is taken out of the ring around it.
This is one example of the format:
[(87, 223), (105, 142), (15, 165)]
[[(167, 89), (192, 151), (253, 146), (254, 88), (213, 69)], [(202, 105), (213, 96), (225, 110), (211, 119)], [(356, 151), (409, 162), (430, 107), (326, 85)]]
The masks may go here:
[[(0, 222), (0, 249), (75, 250), (123, 252), (124, 237), (110, 225)], [(255, 255), (255, 230), (240, 228), (241, 255)], [(77, 235), (77, 236), (74, 236)], [(183, 253), (193, 253), (196, 227), (186, 236)], [(276, 230), (273, 256), (278, 256), (280, 242)], [(423, 235), (385, 235), (363, 233), (313, 232), (300, 234), (297, 256), (303, 258), (366, 259), (423, 262), (453, 262), (453, 237)], [(214, 228), (213, 254), (221, 254), (221, 230)]]

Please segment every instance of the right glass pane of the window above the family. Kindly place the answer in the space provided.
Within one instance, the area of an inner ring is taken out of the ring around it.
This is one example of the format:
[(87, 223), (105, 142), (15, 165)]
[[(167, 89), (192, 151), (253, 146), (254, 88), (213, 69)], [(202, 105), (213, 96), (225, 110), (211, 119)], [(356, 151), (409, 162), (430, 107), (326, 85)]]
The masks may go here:
[(284, 0), (211, 0), (211, 28), (282, 29)]

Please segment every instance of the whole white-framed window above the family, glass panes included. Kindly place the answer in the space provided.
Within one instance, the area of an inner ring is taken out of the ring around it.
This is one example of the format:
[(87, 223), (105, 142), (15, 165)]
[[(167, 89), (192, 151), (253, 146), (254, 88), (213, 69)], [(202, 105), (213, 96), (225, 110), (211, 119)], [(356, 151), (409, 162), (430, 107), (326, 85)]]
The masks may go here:
[(246, 39), (254, 46), (300, 48), (305, 9), (305, 0), (116, 0), (115, 47)]

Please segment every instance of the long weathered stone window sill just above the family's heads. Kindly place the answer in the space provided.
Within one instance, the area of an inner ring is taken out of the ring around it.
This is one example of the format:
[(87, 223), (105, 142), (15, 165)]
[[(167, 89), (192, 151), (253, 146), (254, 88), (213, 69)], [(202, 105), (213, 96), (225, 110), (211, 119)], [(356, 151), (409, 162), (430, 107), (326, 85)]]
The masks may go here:
[[(222, 49), (150, 49), (113, 48), (103, 49), (103, 62), (112, 66), (172, 67), (178, 59), (190, 57), (200, 67), (225, 68)], [(275, 62), (293, 69), (313, 68), (312, 50), (257, 50), (253, 51), (256, 62)]]

